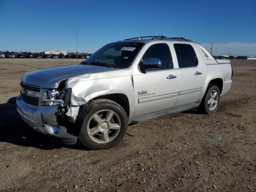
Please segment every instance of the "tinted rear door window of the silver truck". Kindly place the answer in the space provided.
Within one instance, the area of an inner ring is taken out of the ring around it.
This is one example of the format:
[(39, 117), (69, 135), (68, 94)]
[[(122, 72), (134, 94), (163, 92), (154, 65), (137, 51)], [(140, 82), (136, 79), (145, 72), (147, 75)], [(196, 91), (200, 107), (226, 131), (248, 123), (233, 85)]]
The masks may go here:
[(174, 44), (179, 68), (195, 67), (198, 64), (194, 48), (190, 44)]

